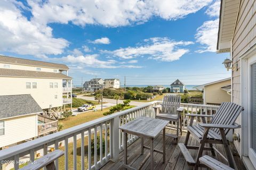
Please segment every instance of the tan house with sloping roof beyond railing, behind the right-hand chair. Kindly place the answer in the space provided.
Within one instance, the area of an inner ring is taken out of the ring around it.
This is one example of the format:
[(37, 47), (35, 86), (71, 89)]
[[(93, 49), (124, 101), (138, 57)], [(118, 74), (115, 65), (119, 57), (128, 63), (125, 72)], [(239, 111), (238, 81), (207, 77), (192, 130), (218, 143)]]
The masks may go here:
[(231, 78), (202, 84), (194, 88), (203, 89), (204, 105), (220, 105), (224, 101), (231, 101)]

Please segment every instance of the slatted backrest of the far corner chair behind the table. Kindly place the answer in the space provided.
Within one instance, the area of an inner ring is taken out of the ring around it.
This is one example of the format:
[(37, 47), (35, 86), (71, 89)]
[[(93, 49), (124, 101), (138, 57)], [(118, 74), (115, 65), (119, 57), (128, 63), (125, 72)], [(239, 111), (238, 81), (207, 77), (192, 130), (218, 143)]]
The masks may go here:
[(162, 113), (178, 114), (177, 109), (180, 107), (181, 96), (166, 95), (163, 99)]

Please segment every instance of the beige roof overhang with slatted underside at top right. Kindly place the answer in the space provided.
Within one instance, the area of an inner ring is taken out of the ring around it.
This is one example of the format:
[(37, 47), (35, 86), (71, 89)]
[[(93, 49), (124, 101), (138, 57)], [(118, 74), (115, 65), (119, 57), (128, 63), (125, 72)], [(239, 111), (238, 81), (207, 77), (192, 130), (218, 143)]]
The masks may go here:
[(217, 53), (230, 52), (240, 0), (221, 0)]

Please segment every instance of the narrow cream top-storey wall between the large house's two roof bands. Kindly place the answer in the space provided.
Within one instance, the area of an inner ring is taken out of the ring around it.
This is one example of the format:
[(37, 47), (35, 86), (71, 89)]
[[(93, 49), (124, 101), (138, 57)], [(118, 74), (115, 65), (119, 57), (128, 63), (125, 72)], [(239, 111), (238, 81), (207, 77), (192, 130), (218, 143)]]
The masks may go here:
[[(28, 65), (8, 64), (8, 63), (1, 63), (1, 62), (0, 62), (0, 69), (6, 69), (4, 65), (10, 65), (8, 69), (15, 69), (15, 70), (38, 71), (36, 69), (40, 68), (42, 72), (54, 72), (54, 70), (57, 70), (57, 72), (59, 72), (58, 69), (51, 69), (51, 68), (46, 68), (41, 66), (28, 66)], [(57, 73), (57, 72), (54, 72), (54, 73)]]

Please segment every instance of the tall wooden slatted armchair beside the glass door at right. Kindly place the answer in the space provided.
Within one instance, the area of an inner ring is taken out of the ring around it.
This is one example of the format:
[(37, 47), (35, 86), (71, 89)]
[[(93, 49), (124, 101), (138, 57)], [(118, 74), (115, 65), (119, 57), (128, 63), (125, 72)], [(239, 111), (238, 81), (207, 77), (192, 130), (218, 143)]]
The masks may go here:
[[(231, 168), (235, 168), (234, 158), (229, 148), (229, 141), (227, 140), (226, 135), (230, 129), (241, 128), (241, 126), (236, 124), (235, 121), (242, 110), (242, 106), (231, 102), (224, 102), (220, 105), (220, 108), (218, 109), (217, 113), (214, 114), (214, 116), (186, 114), (186, 116), (190, 116), (191, 119), (188, 126), (185, 143), (179, 143), (179, 147), (188, 165), (194, 166), (194, 169), (198, 169), (198, 166), (200, 166), (199, 158), (202, 157), (203, 150), (211, 150), (213, 156), (215, 156), (214, 151), (217, 151), (218, 154), (228, 162)], [(195, 117), (202, 117), (203, 123), (193, 125)], [(209, 124), (206, 123), (205, 117), (212, 117)], [(200, 143), (199, 147), (188, 146), (190, 133), (193, 134), (193, 136)], [(206, 143), (209, 143), (210, 147), (205, 147)], [(215, 147), (213, 147), (213, 143), (224, 145), (227, 158), (223, 156)], [(198, 149), (196, 160), (191, 157), (188, 149)]]

